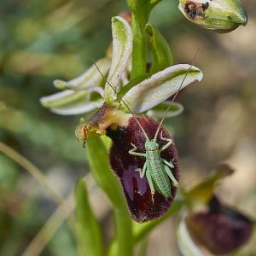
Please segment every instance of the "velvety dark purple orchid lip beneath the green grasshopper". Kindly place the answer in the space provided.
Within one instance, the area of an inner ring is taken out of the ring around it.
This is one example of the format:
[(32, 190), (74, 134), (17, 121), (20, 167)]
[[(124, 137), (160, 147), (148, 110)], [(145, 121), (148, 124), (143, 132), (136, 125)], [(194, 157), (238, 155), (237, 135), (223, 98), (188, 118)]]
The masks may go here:
[[(131, 117), (127, 126), (117, 125), (115, 129), (108, 128), (106, 135), (113, 140), (110, 165), (122, 184), (131, 217), (137, 222), (146, 222), (160, 218), (171, 207), (177, 187), (172, 185), (172, 197), (169, 198), (156, 190), (152, 200), (147, 178), (141, 178), (136, 171), (137, 168), (143, 168), (145, 158), (129, 154), (131, 143), (137, 146), (137, 152), (145, 153), (146, 138), (137, 121), (143, 126), (148, 138), (153, 139), (159, 124), (148, 116)], [(160, 127), (160, 131), (163, 137), (171, 138), (164, 126)], [(160, 139), (160, 133), (157, 143), (160, 144), (160, 148), (166, 144), (166, 141)], [(177, 149), (174, 143), (161, 153), (161, 158), (168, 162), (172, 161), (172, 174), (178, 181)]]

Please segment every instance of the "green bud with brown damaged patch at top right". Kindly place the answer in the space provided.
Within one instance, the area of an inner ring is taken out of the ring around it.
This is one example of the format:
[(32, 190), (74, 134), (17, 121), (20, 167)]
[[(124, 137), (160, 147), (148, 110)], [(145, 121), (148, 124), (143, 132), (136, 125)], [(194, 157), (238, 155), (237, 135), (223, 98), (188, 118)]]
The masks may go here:
[(215, 32), (247, 25), (247, 12), (240, 0), (179, 0), (178, 8), (188, 20)]

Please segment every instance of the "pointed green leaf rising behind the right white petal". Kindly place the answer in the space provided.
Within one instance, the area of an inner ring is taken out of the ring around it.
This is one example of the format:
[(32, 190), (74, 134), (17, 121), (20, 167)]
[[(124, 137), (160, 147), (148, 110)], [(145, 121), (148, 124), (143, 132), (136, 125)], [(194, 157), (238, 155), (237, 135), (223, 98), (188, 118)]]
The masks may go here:
[(166, 38), (164, 38), (159, 30), (151, 24), (146, 25), (146, 31), (148, 32), (150, 51), (152, 55), (150, 73), (156, 73), (166, 67), (172, 66), (172, 51), (166, 41)]

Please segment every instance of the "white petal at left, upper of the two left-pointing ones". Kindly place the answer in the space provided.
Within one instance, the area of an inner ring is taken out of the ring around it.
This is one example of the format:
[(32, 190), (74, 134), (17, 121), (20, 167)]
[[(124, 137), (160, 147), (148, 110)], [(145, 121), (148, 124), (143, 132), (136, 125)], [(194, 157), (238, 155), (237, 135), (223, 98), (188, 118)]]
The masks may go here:
[[(107, 75), (110, 64), (111, 60), (108, 57), (102, 58), (101, 60), (96, 61), (96, 65), (93, 64), (85, 73), (75, 79), (72, 79), (68, 82), (58, 79), (55, 80), (55, 87), (60, 90), (84, 90), (84, 88), (98, 86), (103, 79), (102, 75)], [(99, 68), (102, 74), (98, 71), (96, 66)]]

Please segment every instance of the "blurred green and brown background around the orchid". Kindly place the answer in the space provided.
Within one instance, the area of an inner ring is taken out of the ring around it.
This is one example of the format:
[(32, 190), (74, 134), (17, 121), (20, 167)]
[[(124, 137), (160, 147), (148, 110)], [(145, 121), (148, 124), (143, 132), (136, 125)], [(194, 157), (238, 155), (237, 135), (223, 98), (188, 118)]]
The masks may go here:
[[(243, 3), (248, 24), (228, 34), (190, 24), (179, 13), (177, 0), (163, 0), (150, 20), (170, 42), (176, 63), (191, 63), (201, 47), (195, 66), (204, 79), (183, 90), (179, 101), (184, 112), (166, 120), (179, 152), (182, 186), (199, 183), (214, 166), (227, 162), (236, 172), (217, 194), (255, 219), (256, 3)], [(17, 161), (32, 170), (37, 166), (62, 197), (72, 193), (78, 178), (88, 172), (85, 151), (74, 137), (80, 116), (50, 113), (39, 99), (57, 91), (54, 79), (73, 79), (91, 66), (92, 59), (105, 55), (111, 41), (110, 19), (124, 10), (125, 1), (119, 0), (0, 2), (1, 256), (26, 252), (57, 208), (48, 189)], [(92, 180), (90, 197), (106, 236), (112, 234), (108, 200)], [(179, 255), (176, 218), (150, 235), (149, 256)], [(255, 241), (254, 236), (242, 255), (256, 255)], [(66, 223), (42, 250), (40, 255), (77, 255)]]

